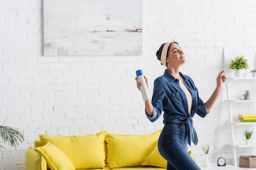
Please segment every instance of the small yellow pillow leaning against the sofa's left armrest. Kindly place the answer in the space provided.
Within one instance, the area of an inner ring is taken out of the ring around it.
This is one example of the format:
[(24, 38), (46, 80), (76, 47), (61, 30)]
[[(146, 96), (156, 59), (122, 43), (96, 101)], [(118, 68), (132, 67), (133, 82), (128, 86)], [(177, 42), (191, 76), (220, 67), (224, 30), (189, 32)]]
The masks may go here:
[(44, 157), (51, 170), (76, 170), (67, 156), (49, 142), (42, 147), (35, 147), (35, 151)]

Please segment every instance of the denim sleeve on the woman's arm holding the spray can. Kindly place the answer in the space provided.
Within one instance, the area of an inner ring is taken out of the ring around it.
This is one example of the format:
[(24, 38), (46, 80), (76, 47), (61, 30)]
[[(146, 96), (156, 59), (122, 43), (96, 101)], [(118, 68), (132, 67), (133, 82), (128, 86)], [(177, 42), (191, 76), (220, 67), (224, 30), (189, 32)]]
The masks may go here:
[(163, 83), (159, 78), (154, 80), (154, 88), (153, 88), (153, 95), (151, 99), (151, 103), (153, 105), (153, 112), (152, 116), (149, 116), (145, 109), (145, 114), (147, 118), (151, 122), (155, 122), (162, 114), (163, 109), (163, 99), (165, 97), (165, 90), (163, 88)]

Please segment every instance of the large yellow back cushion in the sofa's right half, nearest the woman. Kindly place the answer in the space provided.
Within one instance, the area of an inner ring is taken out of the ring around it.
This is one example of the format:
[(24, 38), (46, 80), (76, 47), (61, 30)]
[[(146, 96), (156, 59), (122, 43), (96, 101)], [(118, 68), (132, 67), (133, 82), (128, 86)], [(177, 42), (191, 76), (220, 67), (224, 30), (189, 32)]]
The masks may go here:
[(108, 134), (106, 168), (140, 166), (157, 144), (161, 130), (147, 135)]

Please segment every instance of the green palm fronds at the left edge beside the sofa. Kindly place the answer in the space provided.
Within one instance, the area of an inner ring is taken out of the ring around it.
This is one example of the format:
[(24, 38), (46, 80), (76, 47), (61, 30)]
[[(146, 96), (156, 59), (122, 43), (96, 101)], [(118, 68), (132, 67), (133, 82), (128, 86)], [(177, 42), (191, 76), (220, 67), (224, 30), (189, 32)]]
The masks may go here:
[(8, 144), (11, 147), (15, 147), (19, 142), (23, 141), (24, 138), (18, 130), (13, 127), (0, 125), (0, 150), (6, 149), (2, 144)]

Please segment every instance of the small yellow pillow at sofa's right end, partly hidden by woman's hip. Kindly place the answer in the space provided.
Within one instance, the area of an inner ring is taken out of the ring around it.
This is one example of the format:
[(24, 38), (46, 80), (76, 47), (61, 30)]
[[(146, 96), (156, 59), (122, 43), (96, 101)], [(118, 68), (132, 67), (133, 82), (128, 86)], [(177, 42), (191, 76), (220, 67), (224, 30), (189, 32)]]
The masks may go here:
[[(192, 159), (195, 160), (192, 152), (189, 151), (188, 153), (192, 157)], [(149, 166), (154, 166), (154, 167), (166, 168), (167, 161), (160, 155), (160, 153), (158, 151), (158, 147), (156, 145), (156, 147), (154, 148), (152, 153), (148, 156), (148, 158), (141, 165), (149, 165)]]

